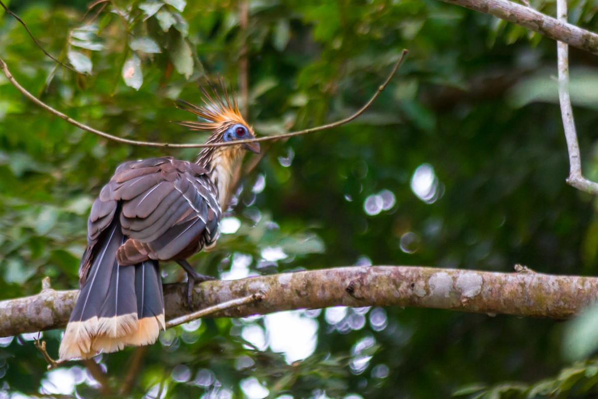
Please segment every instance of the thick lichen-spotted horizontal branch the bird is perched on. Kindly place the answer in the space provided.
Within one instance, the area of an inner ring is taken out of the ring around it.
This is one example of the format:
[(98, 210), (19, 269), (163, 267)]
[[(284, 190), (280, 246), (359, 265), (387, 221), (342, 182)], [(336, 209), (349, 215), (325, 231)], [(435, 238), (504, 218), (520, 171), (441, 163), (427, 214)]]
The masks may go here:
[[(199, 284), (196, 307), (257, 293), (264, 300), (210, 317), (244, 317), (328, 306), (416, 306), (462, 312), (569, 318), (598, 301), (598, 278), (416, 266), (354, 266)], [(167, 319), (185, 313), (186, 284), (164, 286)], [(0, 301), (0, 337), (66, 325), (77, 291), (55, 291)]]

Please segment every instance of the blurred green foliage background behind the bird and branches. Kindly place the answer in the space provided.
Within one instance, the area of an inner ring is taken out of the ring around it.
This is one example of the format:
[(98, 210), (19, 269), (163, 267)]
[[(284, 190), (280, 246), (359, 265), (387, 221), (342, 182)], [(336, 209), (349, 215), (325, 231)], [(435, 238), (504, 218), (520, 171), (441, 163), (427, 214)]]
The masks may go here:
[[(81, 73), (44, 57), (3, 11), (0, 56), (51, 106), (125, 138), (202, 140), (171, 123), (189, 118), (173, 101), (196, 101), (196, 81), (216, 74), (233, 87), (248, 75), (258, 134), (337, 120), (358, 109), (401, 50), (410, 50), (358, 120), (263, 146), (229, 214), (240, 227), (191, 260), (201, 272), (370, 263), (508, 272), (521, 263), (596, 275), (596, 200), (565, 184), (553, 41), (432, 0), (252, 1), (246, 29), (238, 2), (91, 4), (11, 4), (50, 53)], [(533, 6), (554, 13), (552, 1)], [(570, 7), (572, 22), (598, 28), (595, 1)], [(598, 63), (573, 49), (571, 63), (584, 170), (598, 179)], [(57, 289), (77, 285), (87, 212), (118, 163), (196, 152), (84, 133), (0, 76), (0, 299), (36, 293), (44, 276)], [(184, 278), (172, 265), (164, 276)], [(565, 333), (564, 324), (434, 309), (345, 309), (332, 317), (337, 310), (306, 316), (318, 325), (306, 360), (289, 362), (249, 339), (248, 328), (271, 331), (266, 318), (205, 319), (165, 331), (147, 352), (100, 356), (104, 389), (168, 398), (596, 395), (596, 361), (571, 365), (561, 352), (563, 336), (569, 343), (586, 337)], [(59, 338), (60, 331), (44, 333), (51, 354)], [(58, 380), (61, 389), (71, 381), (62, 393), (99, 394), (84, 364), (46, 371), (31, 340), (0, 339), (0, 397), (61, 392), (52, 385)], [(143, 360), (133, 367), (136, 355)]]

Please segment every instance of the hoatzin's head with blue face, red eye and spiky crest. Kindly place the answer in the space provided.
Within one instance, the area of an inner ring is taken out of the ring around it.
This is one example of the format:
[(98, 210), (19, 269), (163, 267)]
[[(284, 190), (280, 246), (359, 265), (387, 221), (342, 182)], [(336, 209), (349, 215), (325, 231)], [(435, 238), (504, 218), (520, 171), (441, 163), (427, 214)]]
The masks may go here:
[[(182, 121), (179, 124), (191, 130), (202, 130), (212, 133), (206, 144), (235, 142), (255, 138), (254, 130), (239, 112), (239, 105), (234, 93), (230, 94), (228, 92), (222, 79), (219, 81), (219, 86), (220, 90), (214, 86), (210, 86), (210, 90), (203, 86), (200, 87), (203, 94), (202, 105), (197, 106), (184, 100), (178, 100), (177, 106), (179, 108), (185, 109), (203, 119), (203, 121)], [(240, 145), (216, 147), (216, 149), (217, 151), (227, 151), (230, 153), (230, 156), (234, 157), (240, 156), (240, 150), (242, 149), (259, 154), (260, 144), (257, 142), (243, 143)]]

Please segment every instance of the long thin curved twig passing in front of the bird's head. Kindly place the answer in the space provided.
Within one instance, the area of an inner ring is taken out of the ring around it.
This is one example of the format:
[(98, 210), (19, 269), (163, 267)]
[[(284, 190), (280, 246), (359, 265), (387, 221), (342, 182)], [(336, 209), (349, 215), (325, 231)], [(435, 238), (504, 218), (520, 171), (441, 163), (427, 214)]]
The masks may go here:
[(145, 145), (148, 147), (206, 148), (206, 147), (225, 147), (227, 145), (246, 144), (246, 143), (251, 143), (251, 142), (271, 141), (271, 140), (289, 138), (289, 137), (293, 137), (293, 136), (300, 136), (300, 135), (306, 135), (308, 133), (319, 132), (320, 130), (332, 129), (332, 127), (337, 127), (337, 126), (341, 126), (342, 124), (349, 123), (350, 121), (359, 117), (359, 115), (363, 114), (365, 112), (365, 110), (368, 109), (370, 107), (370, 105), (374, 102), (374, 100), (376, 100), (378, 98), (380, 93), (382, 93), (382, 91), (384, 89), (386, 89), (386, 86), (388, 86), (390, 80), (396, 74), (396, 71), (398, 71), (399, 66), (401, 66), (401, 63), (402, 63), (403, 59), (405, 58), (405, 55), (407, 55), (407, 53), (408, 53), (408, 50), (402, 51), (401, 57), (396, 62), (395, 66), (392, 68), (392, 71), (388, 75), (388, 78), (386, 78), (384, 83), (382, 83), (378, 87), (378, 90), (376, 90), (376, 93), (374, 93), (374, 95), (370, 98), (370, 100), (368, 100), (367, 103), (365, 103), (364, 106), (362, 106), (357, 112), (355, 112), (353, 115), (350, 115), (347, 118), (344, 118), (344, 119), (341, 119), (341, 120), (338, 120), (338, 121), (335, 121), (332, 123), (328, 123), (323, 126), (311, 127), (310, 129), (304, 129), (304, 130), (298, 130), (297, 132), (289, 132), (289, 133), (283, 133), (280, 135), (259, 137), (259, 138), (255, 138), (255, 139), (235, 140), (234, 142), (231, 141), (231, 142), (221, 142), (221, 143), (212, 143), (212, 144), (172, 144), (172, 143), (160, 143), (160, 142), (149, 142), (149, 141), (137, 141), (137, 140), (123, 139), (123, 138), (120, 138), (117, 136), (113, 136), (109, 133), (102, 132), (101, 130), (94, 129), (93, 127), (87, 126), (86, 124), (76, 121), (73, 118), (69, 117), (68, 115), (63, 114), (60, 111), (57, 111), (56, 109), (52, 108), (50, 105), (47, 105), (46, 103), (42, 102), (41, 100), (39, 100), (38, 98), (33, 96), (23, 86), (21, 86), (19, 84), (19, 82), (17, 82), (15, 80), (13, 75), (8, 70), (8, 66), (6, 65), (4, 60), (2, 60), (1, 58), (0, 58), (0, 71), (2, 71), (2, 73), (4, 73), (4, 75), (7, 77), (8, 81), (10, 81), (10, 83), (13, 84), (13, 86), (16, 87), (17, 90), (19, 90), (19, 92), (23, 93), (23, 95), (25, 95), (28, 99), (32, 100), (32, 102), (36, 103), (37, 105), (41, 106), (42, 108), (46, 109), (47, 111), (50, 111), (52, 114), (56, 115), (57, 117), (64, 119), (68, 123), (74, 124), (78, 128), (86, 130), (87, 132), (93, 133), (94, 135), (102, 136), (103, 138), (110, 139), (110, 140), (117, 141), (117, 142), (124, 143), (124, 144)]

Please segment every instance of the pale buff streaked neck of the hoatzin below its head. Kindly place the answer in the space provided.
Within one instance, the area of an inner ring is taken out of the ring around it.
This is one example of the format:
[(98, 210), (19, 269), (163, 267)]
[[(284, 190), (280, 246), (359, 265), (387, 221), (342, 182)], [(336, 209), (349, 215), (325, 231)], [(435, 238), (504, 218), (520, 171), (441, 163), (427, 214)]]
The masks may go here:
[(210, 180), (218, 191), (218, 202), (222, 212), (226, 211), (233, 174), (242, 158), (242, 150), (233, 147), (205, 148), (197, 158), (197, 164), (208, 169)]

